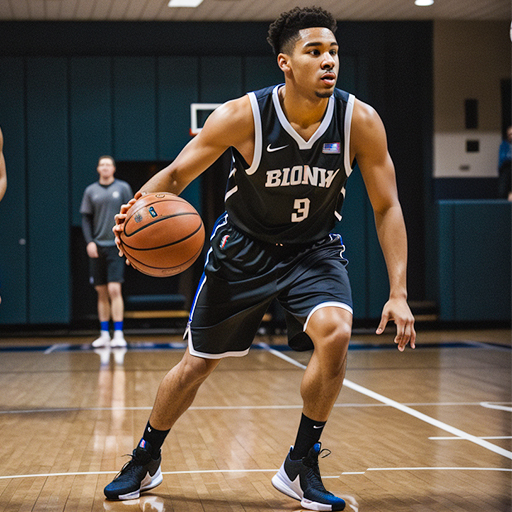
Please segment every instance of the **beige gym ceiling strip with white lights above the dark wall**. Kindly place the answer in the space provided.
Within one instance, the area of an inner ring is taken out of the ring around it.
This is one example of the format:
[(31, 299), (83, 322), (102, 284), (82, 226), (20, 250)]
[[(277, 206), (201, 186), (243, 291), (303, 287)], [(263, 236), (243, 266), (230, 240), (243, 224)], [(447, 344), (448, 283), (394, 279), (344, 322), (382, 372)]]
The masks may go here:
[(338, 20), (504, 20), (510, 0), (204, 0), (169, 8), (168, 0), (0, 0), (0, 20), (269, 21), (296, 5), (320, 5)]

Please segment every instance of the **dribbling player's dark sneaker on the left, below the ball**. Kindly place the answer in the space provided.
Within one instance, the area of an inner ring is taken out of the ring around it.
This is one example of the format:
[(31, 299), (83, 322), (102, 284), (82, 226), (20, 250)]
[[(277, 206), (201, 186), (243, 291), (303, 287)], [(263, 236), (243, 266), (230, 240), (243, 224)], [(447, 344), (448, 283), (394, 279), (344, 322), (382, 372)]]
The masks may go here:
[(149, 445), (143, 439), (139, 446), (133, 450), (132, 458), (128, 461), (118, 475), (104, 489), (108, 500), (133, 500), (140, 496), (142, 491), (153, 489), (162, 483), (160, 463), (151, 457)]

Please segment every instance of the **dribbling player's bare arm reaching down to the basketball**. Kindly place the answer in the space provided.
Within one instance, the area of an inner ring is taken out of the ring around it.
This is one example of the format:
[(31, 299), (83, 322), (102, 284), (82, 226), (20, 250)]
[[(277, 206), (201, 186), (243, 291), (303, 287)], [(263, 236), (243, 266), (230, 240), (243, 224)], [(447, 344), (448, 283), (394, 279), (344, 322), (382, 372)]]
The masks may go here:
[[(229, 147), (236, 147), (247, 156), (253, 151), (254, 122), (248, 96), (228, 101), (214, 110), (203, 129), (180, 152), (176, 159), (147, 181), (116, 215), (113, 228), (119, 246), (126, 212), (142, 195), (171, 192), (179, 195), (195, 178), (210, 167)], [(252, 156), (252, 155), (251, 155)]]

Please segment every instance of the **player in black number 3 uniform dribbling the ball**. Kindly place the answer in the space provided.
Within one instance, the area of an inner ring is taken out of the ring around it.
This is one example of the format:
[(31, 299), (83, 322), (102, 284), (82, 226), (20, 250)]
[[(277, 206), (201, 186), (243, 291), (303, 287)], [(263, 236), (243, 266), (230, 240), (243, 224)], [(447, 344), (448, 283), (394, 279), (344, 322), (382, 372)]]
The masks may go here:
[[(331, 230), (355, 161), (375, 212), (390, 282), (377, 333), (393, 320), (400, 351), (407, 344), (414, 348), (416, 333), (406, 301), (406, 232), (386, 134), (370, 106), (335, 88), (335, 30), (335, 20), (320, 8), (283, 13), (268, 39), (284, 85), (219, 107), (176, 160), (141, 188), (179, 194), (231, 150), (226, 213), (214, 228), (191, 309), (188, 350), (160, 384), (131, 461), (105, 488), (109, 499), (136, 498), (162, 481), (160, 448), (169, 429), (221, 358), (247, 354), (277, 298), (286, 311), (290, 344), (311, 343), (314, 351), (300, 387), (297, 436), (272, 483), (304, 508), (345, 508), (344, 500), (325, 489), (318, 457), (320, 435), (342, 387), (352, 328), (347, 262), (341, 238)], [(116, 216), (116, 236), (130, 204)]]

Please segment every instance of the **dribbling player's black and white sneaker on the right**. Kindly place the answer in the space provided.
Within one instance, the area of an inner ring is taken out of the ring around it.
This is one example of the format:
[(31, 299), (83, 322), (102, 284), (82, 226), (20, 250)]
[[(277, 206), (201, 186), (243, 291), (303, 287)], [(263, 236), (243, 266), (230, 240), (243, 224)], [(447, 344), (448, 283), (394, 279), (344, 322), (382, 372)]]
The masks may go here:
[(329, 450), (321, 450), (321, 444), (316, 443), (307, 457), (301, 460), (286, 457), (279, 471), (272, 478), (272, 485), (282, 493), (300, 501), (309, 510), (344, 510), (345, 501), (327, 491), (320, 477), (318, 456)]

